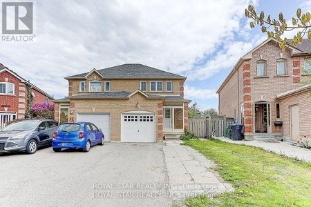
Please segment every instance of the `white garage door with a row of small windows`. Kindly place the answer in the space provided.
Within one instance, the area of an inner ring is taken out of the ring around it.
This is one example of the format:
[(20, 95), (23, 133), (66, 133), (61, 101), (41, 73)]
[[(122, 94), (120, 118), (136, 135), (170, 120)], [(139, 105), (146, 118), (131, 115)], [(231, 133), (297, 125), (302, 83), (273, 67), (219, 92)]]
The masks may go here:
[(156, 116), (151, 112), (132, 111), (122, 114), (122, 142), (155, 142)]

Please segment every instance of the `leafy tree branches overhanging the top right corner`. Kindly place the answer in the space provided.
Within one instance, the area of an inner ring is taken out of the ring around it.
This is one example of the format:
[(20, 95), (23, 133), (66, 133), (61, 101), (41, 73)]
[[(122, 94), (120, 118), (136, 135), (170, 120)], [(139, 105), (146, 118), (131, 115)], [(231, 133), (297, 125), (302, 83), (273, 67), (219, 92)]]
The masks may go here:
[(271, 20), (270, 15), (265, 19), (265, 13), (261, 11), (258, 14), (255, 11), (254, 6), (250, 5), (245, 9), (245, 17), (252, 19), (249, 23), (251, 28), (255, 28), (256, 25), (261, 26), (261, 31), (266, 32), (268, 38), (275, 37), (279, 41), (280, 48), (285, 51), (285, 46), (288, 39), (281, 39), (282, 34), (286, 31), (299, 30), (296, 35), (292, 38), (291, 45), (297, 46), (303, 40), (305, 34), (307, 34), (308, 39), (311, 39), (311, 15), (310, 12), (301, 13), (299, 8), (296, 12), (296, 17), (292, 17), (293, 26), (288, 26), (286, 20), (283, 18), (282, 12), (279, 14), (279, 20)]

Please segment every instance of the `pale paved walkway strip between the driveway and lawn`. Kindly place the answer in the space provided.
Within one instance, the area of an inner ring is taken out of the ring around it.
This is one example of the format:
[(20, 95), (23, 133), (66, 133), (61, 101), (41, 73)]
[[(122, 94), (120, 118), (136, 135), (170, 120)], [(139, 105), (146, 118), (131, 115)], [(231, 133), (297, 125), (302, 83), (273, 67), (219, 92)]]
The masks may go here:
[(234, 190), (231, 184), (211, 170), (215, 166), (214, 162), (180, 143), (182, 141), (164, 141), (163, 146), (173, 197), (186, 199), (205, 194), (212, 198), (216, 193)]

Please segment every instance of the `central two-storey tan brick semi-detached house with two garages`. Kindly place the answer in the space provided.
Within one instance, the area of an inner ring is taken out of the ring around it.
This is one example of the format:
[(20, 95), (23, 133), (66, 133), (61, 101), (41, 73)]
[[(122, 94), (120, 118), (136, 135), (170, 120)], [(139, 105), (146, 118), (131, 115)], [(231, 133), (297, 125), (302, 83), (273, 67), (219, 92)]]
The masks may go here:
[(68, 97), (53, 101), (55, 119), (93, 122), (106, 141), (154, 142), (188, 129), (186, 77), (124, 64), (65, 79)]

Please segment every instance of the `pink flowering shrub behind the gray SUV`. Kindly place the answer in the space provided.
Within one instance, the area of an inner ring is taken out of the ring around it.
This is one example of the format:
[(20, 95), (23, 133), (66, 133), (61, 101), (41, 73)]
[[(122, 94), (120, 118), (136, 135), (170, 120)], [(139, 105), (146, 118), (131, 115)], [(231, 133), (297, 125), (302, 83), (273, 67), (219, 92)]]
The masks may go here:
[(47, 118), (54, 119), (54, 103), (36, 103), (25, 113), (26, 119)]

